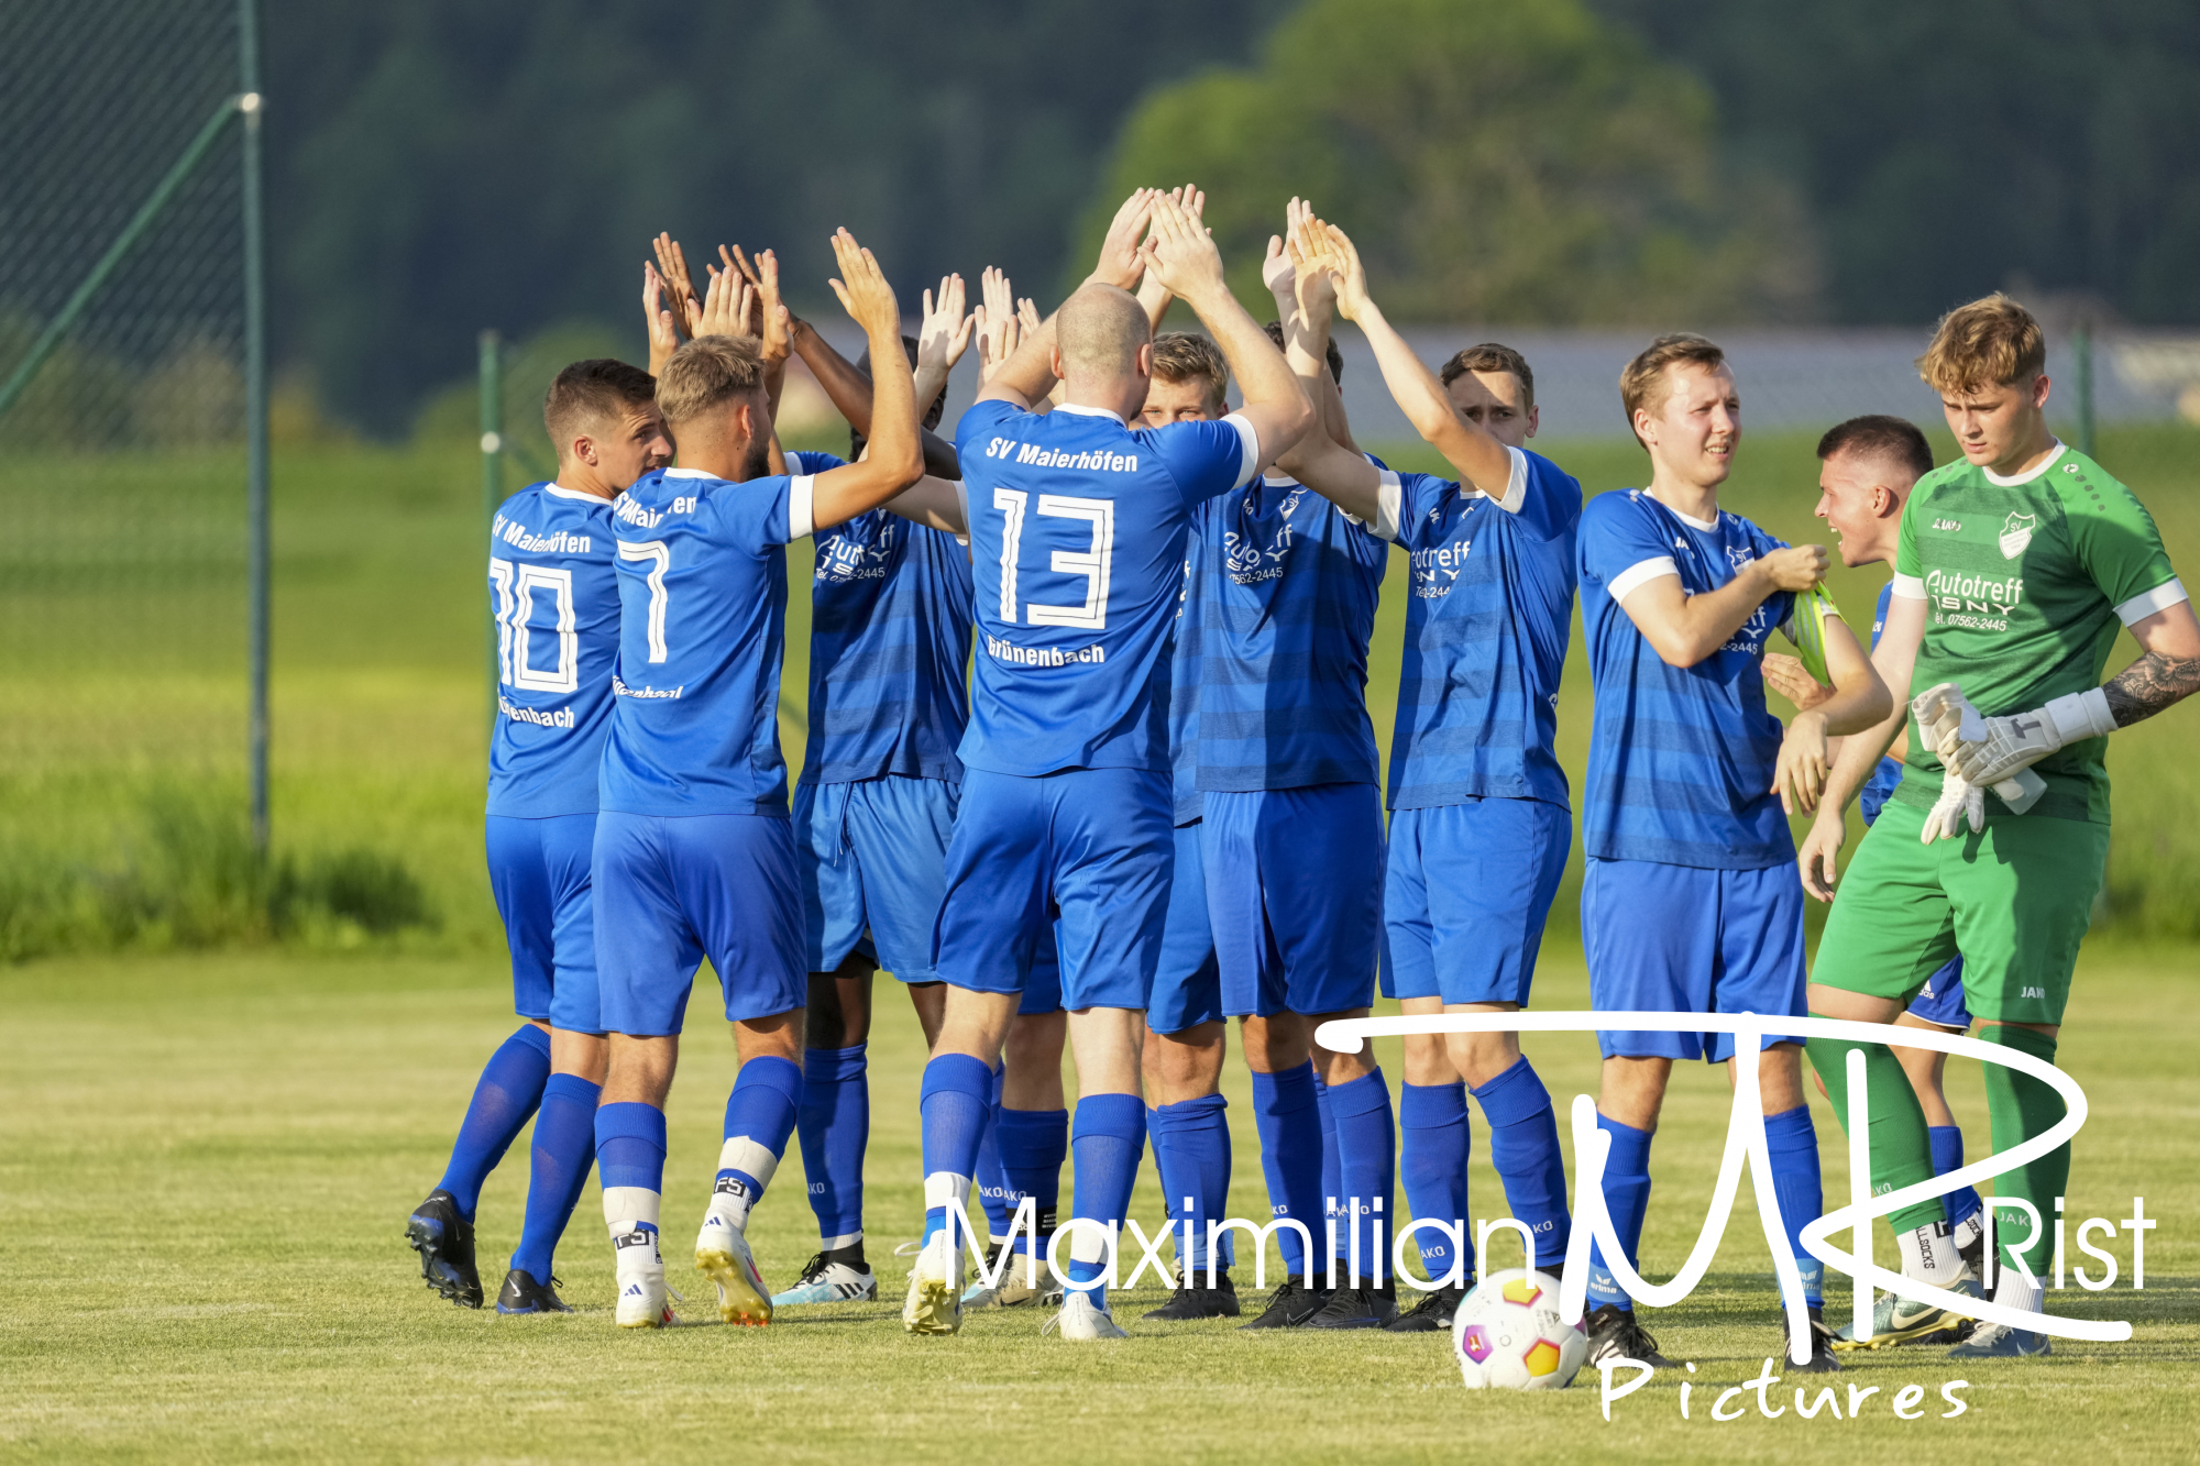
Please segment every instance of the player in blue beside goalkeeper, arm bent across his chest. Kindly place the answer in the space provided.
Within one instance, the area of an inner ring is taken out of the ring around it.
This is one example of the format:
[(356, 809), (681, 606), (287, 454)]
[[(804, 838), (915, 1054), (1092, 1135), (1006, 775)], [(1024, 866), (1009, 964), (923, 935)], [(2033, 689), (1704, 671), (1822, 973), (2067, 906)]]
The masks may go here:
[[(1582, 627), (1595, 720), (1582, 847), (1591, 1006), (1650, 1013), (1804, 1013), (1802, 885), (1786, 801), (1808, 808), (1828, 735), (1870, 729), (1892, 700), (1857, 638), (1826, 623), (1833, 696), (1782, 735), (1764, 707), (1764, 643), (1826, 572), (1822, 546), (1784, 546), (1718, 506), (1740, 442), (1725, 354), (1696, 335), (1652, 341), (1619, 376), (1650, 486), (1588, 502)], [(1635, 1263), (1650, 1200), (1650, 1136), (1676, 1059), (1756, 1061), (1773, 1193), (1811, 1305), (1811, 1369), (1837, 1369), (1819, 1321), (1824, 1266), (1800, 1233), (1819, 1215), (1817, 1134), (1800, 1043), (1778, 1032), (1602, 1032), (1604, 1197)], [(1663, 1365), (1602, 1250), (1591, 1252), (1588, 1356)]]

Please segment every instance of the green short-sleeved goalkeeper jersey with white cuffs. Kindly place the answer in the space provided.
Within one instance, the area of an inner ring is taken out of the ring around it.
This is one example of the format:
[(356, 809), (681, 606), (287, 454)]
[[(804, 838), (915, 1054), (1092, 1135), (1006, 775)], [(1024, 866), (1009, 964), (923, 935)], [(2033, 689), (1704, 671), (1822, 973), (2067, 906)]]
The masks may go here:
[[(2017, 478), (1967, 460), (1921, 478), (1903, 508), (1894, 594), (1925, 601), (1910, 696), (1954, 682), (2000, 718), (2099, 687), (2119, 625), (2176, 605), (2185, 588), (2132, 491), (2059, 447)], [(1894, 797), (1929, 806), (1940, 759), (1916, 720), (1910, 751)], [(2031, 814), (2105, 821), (2105, 737), (2088, 737), (2035, 764), (2048, 790)]]

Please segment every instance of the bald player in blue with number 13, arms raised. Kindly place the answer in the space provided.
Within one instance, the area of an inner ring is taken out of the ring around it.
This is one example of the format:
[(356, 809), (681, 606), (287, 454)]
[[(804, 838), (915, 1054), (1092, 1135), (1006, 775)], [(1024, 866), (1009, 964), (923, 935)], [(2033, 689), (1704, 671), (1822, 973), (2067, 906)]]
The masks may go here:
[[(1146, 225), (1153, 240), (1137, 244)], [(1245, 407), (1221, 423), (1131, 429), (1153, 372), (1129, 295), (1146, 269), (1221, 346)], [(1063, 379), (1063, 405), (1034, 398)], [(924, 1070), (926, 1237), (902, 1321), (961, 1325), (959, 1235), (990, 1109), (992, 1059), (1058, 909), (1063, 1006), (1078, 1059), (1065, 1338), (1120, 1338), (1109, 1226), (1131, 1200), (1146, 1114), (1142, 1010), (1170, 894), (1168, 636), (1184, 537), (1206, 497), (1247, 484), (1313, 420), (1283, 354), (1223, 282), (1212, 238), (1142, 189), (1100, 269), (1019, 348), (957, 427), (979, 652), (964, 803), (933, 940), (948, 1004)]]

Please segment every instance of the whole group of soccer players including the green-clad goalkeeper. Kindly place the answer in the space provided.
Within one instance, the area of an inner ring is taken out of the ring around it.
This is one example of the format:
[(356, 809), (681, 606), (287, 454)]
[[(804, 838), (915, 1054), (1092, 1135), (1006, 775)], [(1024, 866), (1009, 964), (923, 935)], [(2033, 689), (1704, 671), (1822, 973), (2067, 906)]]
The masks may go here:
[[(966, 313), (948, 277), (913, 341), (840, 231), (832, 288), (869, 343), (856, 363), (788, 310), (770, 251), (722, 249), (697, 291), (660, 238), (649, 370), (557, 376), (557, 480), (504, 502), (488, 561), (486, 847), (526, 1021), (407, 1224), (442, 1297), (482, 1305), (475, 1204), (535, 1116), (497, 1310), (570, 1312), (552, 1257), (594, 1167), (618, 1325), (673, 1319), (664, 1101), (704, 958), (739, 1072), (695, 1266), (728, 1323), (878, 1297), (862, 1164), (880, 969), (931, 1054), (913, 1334), (1036, 1305), (1063, 1338), (1120, 1338), (1111, 1241), (1148, 1140), (1177, 1277), (1146, 1319), (1250, 1312), (1239, 1228), (1221, 1226), (1230, 1019), (1274, 1213), (1252, 1248), (1272, 1233), (1285, 1266), (1245, 1327), (1450, 1327), (1474, 1286), (1470, 1094), (1529, 1261), (1558, 1274), (1564, 1158), (1518, 1037), (1410, 1037), (1393, 1103), (1366, 1052), (1324, 1050), (1316, 1030), (1366, 1015), (1377, 988), (1408, 1015), (1527, 1006), (1573, 843), (1553, 742), (1575, 597), (1595, 698), (1580, 792), (1593, 1008), (1978, 1024), (2053, 1059), (2108, 854), (2105, 735), (2200, 685), (2200, 623), (2145, 508), (2046, 431), (2046, 350), (2022, 306), (1954, 310), (1918, 363), (1960, 460), (1934, 469), (1923, 434), (1885, 416), (1819, 442), (1817, 515), (1844, 561), (1894, 572), (1866, 647), (1819, 586), (1824, 548), (1720, 508), (1740, 394), (1712, 341), (1665, 335), (1628, 363), (1621, 407), (1650, 478), (1584, 504), (1527, 447), (1536, 379), (1516, 350), (1472, 346), (1432, 372), (1371, 299), (1353, 242), (1298, 200), (1263, 264), (1278, 317), (1263, 328), (1201, 209), (1197, 189), (1140, 189), (1054, 315), (999, 271)], [(1203, 335), (1155, 335), (1179, 299)], [(1454, 478), (1397, 473), (1353, 440), (1338, 315)], [(970, 346), (977, 403), (944, 440)], [(847, 460), (781, 447), (790, 357), (847, 418)], [(785, 546), (805, 537), (790, 799)], [(1410, 594), (1384, 786), (1366, 671), (1390, 546)], [(2121, 627), (2143, 656), (2101, 685)], [(1797, 656), (1769, 652), (1775, 630)], [(1797, 707), (1784, 726), (1767, 685)], [(1804, 898), (1833, 900), (1857, 797), (1870, 832), (1806, 973)], [(1811, 817), (1800, 852), (1791, 812)], [(1780, 1035), (1738, 1054), (1734, 1035), (1670, 1030), (1599, 1048), (1604, 1197), (1628, 1268), (1672, 1063), (1753, 1063), (1811, 1369), (1866, 1343), (2046, 1352), (2044, 1334), (1896, 1294), (1870, 1341), (1822, 1321), (1822, 1263), (1800, 1244), (1822, 1213), (1804, 1050), (1844, 1123), (1861, 1050), (1877, 1193), (1962, 1164), (1938, 1054)], [(1987, 1068), (1987, 1096), (1998, 1151), (2061, 1118), (2048, 1085), (2006, 1065)], [(821, 1246), (774, 1294), (746, 1233), (796, 1136)], [(2037, 1312), (2042, 1208), (2066, 1175), (2068, 1147), (2002, 1175), (1995, 1303)], [(1399, 1180), (1415, 1219), (1450, 1224), (1415, 1230), (1434, 1286), (1406, 1308), (1388, 1274)], [(1905, 1277), (1984, 1297), (1973, 1191), (1890, 1219)], [(1602, 1248), (1586, 1292), (1593, 1360), (1665, 1365)]]

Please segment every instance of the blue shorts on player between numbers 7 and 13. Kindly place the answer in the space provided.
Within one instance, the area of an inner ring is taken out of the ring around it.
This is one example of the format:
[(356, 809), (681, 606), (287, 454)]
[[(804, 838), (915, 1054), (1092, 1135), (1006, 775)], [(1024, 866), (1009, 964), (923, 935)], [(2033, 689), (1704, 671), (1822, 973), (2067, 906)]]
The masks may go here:
[(957, 799), (957, 784), (898, 775), (794, 788), (812, 973), (838, 971), (860, 951), (902, 982), (937, 982), (933, 922)]

